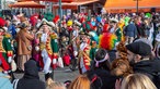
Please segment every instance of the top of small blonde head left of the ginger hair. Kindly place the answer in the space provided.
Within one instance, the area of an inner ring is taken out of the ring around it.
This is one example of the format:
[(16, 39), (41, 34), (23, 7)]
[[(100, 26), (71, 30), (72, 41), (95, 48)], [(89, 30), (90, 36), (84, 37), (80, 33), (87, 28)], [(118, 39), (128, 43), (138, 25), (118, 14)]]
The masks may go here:
[(66, 88), (65, 84), (54, 81), (54, 82), (47, 85), (46, 89), (67, 89), (67, 88)]

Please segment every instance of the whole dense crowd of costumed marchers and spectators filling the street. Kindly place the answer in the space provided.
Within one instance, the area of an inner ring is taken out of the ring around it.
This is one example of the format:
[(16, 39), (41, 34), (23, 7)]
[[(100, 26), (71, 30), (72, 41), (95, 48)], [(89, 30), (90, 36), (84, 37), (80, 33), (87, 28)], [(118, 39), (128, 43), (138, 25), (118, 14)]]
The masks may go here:
[[(80, 75), (54, 81), (64, 66)], [(0, 17), (0, 89), (160, 89), (160, 14)]]

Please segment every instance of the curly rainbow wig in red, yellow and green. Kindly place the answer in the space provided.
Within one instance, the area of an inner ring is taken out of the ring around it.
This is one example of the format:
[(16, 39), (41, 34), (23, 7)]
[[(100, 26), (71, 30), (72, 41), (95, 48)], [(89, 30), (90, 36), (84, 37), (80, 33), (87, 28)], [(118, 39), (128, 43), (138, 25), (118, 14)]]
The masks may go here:
[(114, 34), (103, 33), (99, 37), (99, 48), (113, 50), (115, 48), (116, 41), (117, 41), (117, 37)]

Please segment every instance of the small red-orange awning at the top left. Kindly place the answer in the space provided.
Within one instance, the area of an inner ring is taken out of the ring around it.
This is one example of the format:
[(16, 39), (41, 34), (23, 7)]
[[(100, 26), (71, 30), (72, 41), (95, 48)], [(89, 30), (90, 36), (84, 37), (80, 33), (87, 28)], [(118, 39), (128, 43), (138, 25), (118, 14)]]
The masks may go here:
[(45, 5), (36, 3), (34, 1), (15, 2), (14, 4), (9, 4), (9, 8), (42, 8)]

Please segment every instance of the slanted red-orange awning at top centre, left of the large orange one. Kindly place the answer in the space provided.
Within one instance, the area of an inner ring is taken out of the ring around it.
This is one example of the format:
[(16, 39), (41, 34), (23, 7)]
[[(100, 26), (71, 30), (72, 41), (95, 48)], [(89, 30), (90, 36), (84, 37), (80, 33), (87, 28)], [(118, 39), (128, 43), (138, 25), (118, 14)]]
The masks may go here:
[[(71, 9), (71, 10), (77, 10), (78, 9), (78, 5), (83, 5), (83, 4), (89, 4), (89, 3), (93, 3), (93, 2), (96, 2), (99, 0), (76, 0), (73, 2), (70, 2), (70, 3), (61, 3), (61, 8), (62, 9)], [(58, 9), (59, 8), (59, 4), (55, 4), (54, 5), (54, 9)]]

